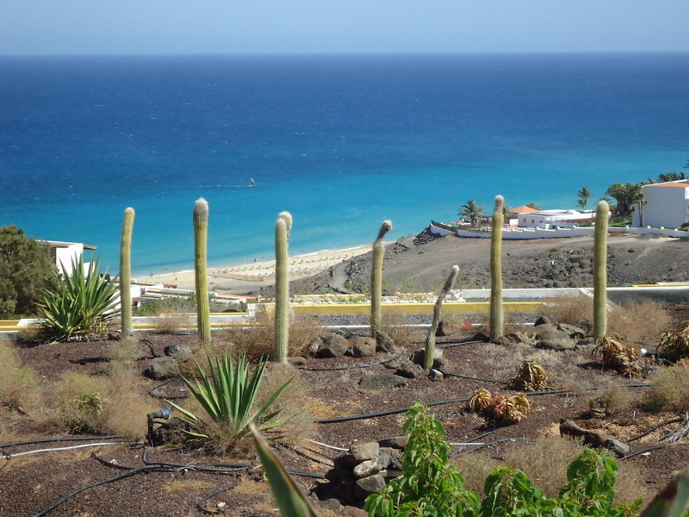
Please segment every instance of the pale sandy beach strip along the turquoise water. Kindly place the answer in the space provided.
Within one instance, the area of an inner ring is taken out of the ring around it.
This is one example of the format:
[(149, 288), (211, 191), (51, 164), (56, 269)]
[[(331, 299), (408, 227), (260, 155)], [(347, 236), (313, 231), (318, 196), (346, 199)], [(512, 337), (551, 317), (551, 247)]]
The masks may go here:
[[(365, 244), (340, 250), (320, 250), (289, 259), (289, 275), (292, 280), (311, 276), (327, 270), (342, 261), (371, 251)], [(247, 262), (226, 267), (209, 267), (209, 289), (230, 294), (260, 290), (275, 282), (275, 260)], [(178, 289), (194, 289), (194, 270), (173, 271), (150, 276), (139, 276), (138, 281), (174, 285)]]

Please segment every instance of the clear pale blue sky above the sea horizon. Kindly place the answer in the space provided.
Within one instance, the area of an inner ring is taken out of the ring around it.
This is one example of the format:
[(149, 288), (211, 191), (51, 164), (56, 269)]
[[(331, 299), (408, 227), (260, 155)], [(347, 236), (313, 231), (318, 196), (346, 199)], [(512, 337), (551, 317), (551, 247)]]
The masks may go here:
[(0, 0), (0, 53), (686, 52), (688, 20), (688, 0)]

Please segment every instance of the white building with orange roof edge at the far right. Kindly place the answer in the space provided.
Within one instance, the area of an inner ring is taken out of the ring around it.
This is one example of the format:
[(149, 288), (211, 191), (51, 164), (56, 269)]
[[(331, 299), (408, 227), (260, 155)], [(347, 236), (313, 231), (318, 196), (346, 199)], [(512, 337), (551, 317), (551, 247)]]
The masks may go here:
[(679, 228), (689, 221), (689, 180), (665, 181), (644, 185), (646, 203), (644, 221), (639, 221), (639, 207), (635, 207), (633, 226), (664, 226)]

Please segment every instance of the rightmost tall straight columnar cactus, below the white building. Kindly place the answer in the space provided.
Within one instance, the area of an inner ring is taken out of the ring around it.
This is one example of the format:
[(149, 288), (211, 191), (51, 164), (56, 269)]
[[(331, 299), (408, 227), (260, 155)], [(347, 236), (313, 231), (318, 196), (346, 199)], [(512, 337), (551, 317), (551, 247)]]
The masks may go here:
[(610, 207), (599, 201), (593, 243), (593, 338), (597, 341), (608, 332), (608, 218)]

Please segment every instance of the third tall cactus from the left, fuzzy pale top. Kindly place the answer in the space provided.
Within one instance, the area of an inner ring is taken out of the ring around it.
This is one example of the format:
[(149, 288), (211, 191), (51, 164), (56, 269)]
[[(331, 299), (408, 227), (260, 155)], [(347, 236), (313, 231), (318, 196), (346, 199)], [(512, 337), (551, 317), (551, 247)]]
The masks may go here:
[(292, 216), (280, 212), (275, 222), (275, 345), (274, 361), (287, 362), (289, 345), (289, 232), (292, 229)]

